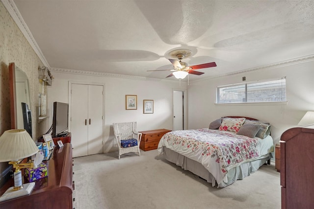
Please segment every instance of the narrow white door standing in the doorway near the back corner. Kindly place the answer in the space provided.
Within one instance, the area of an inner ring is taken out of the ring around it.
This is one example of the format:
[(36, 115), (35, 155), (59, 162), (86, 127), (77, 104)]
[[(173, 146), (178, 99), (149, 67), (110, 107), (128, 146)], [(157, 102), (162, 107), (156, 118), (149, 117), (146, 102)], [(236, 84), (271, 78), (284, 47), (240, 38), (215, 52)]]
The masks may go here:
[(173, 91), (173, 131), (184, 129), (183, 96), (183, 91)]

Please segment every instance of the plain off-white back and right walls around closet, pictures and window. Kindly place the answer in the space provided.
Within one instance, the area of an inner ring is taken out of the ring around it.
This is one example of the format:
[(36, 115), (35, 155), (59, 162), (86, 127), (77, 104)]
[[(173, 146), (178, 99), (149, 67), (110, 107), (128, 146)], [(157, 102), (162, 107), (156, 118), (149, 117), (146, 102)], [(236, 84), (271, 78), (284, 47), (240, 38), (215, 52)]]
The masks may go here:
[[(112, 123), (137, 121), (138, 130), (172, 130), (172, 90), (187, 90), (188, 129), (205, 128), (221, 116), (250, 116), (272, 125), (274, 143), (284, 131), (296, 127), (306, 111), (314, 111), (314, 61), (297, 63), (277, 68), (255, 70), (231, 76), (193, 82), (179, 86), (179, 82), (136, 80), (52, 71), (54, 79), (48, 87), (48, 124), (52, 124), (54, 101), (69, 103), (69, 81), (96, 82), (105, 84), (105, 145), (104, 152), (116, 150), (112, 136)], [(257, 81), (286, 76), (288, 104), (216, 105), (217, 86)], [(137, 110), (125, 109), (125, 95), (137, 95)], [(154, 114), (143, 114), (143, 99), (154, 100)], [(47, 127), (47, 130), (49, 127)]]

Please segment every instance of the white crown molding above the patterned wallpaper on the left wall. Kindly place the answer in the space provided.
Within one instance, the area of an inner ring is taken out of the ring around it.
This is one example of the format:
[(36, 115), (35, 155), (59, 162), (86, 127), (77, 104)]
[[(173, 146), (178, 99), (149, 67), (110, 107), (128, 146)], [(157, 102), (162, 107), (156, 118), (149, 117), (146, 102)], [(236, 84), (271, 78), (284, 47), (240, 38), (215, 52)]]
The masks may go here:
[(30, 44), (30, 46), (33, 48), (39, 59), (42, 61), (44, 66), (50, 68), (43, 52), (40, 50), (39, 46), (37, 45), (33, 35), (31, 34), (27, 24), (25, 23), (19, 9), (17, 8), (16, 4), (13, 0), (1, 0), (4, 7), (8, 11), (8, 13), (11, 15), (14, 22), (17, 24), (23, 35), (25, 36), (27, 42)]

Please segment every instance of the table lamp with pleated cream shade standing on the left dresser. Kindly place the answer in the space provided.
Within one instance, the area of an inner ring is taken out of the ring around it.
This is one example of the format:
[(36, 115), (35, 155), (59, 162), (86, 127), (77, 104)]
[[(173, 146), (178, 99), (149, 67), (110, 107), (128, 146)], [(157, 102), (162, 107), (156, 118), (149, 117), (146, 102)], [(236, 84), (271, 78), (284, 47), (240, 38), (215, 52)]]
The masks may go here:
[(23, 185), (21, 168), (33, 167), (33, 163), (20, 163), (23, 159), (35, 155), (39, 149), (24, 129), (5, 131), (0, 137), (0, 162), (13, 164), (14, 186), (8, 188), (0, 197), (0, 201), (30, 194), (35, 183)]

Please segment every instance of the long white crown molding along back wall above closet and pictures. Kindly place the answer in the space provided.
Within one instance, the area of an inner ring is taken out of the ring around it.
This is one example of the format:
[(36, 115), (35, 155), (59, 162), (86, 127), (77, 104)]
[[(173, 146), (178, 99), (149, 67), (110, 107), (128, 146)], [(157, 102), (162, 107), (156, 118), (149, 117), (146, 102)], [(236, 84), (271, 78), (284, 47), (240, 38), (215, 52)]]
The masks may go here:
[[(102, 77), (111, 77), (111, 78), (122, 78), (122, 79), (133, 79), (133, 80), (142, 80), (142, 81), (157, 81), (157, 82), (165, 82), (165, 83), (178, 83), (179, 80), (166, 80), (159, 78), (149, 78), (142, 76), (134, 76), (134, 75), (124, 75), (124, 74), (114, 74), (108, 72), (95, 72), (95, 71), (85, 71), (85, 70), (71, 70), (71, 69), (62, 69), (62, 68), (51, 68), (51, 71), (68, 73), (68, 74), (78, 74), (78, 75), (89, 75), (89, 76), (102, 76)], [(187, 84), (187, 82), (181, 81), (183, 84)]]

